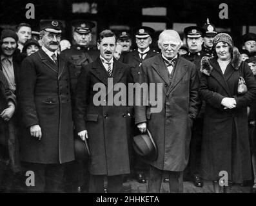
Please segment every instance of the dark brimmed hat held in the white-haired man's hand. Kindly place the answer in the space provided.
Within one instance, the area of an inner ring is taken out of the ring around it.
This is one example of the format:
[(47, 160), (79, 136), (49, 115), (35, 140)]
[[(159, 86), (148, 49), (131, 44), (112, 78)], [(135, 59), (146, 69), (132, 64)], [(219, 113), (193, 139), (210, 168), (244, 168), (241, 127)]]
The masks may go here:
[(157, 145), (155, 145), (148, 129), (144, 134), (133, 136), (133, 149), (147, 160), (155, 160), (157, 158)]

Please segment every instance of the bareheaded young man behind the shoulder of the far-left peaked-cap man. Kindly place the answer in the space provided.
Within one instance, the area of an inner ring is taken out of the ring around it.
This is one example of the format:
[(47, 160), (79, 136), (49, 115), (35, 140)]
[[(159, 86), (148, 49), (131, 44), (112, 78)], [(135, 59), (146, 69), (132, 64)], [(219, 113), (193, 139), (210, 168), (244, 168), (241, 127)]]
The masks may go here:
[(16, 26), (16, 33), (19, 37), (19, 42), (18, 42), (18, 49), (22, 51), (24, 44), (28, 39), (31, 39), (31, 26), (30, 24), (27, 23), (20, 23), (19, 25)]

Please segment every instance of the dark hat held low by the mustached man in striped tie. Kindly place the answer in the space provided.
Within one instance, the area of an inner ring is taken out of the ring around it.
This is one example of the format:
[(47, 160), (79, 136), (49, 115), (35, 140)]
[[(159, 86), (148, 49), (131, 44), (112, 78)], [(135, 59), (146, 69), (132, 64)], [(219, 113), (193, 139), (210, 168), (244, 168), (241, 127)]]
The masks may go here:
[(86, 139), (83, 141), (81, 138), (75, 138), (75, 159), (76, 160), (86, 160), (90, 157), (90, 150)]

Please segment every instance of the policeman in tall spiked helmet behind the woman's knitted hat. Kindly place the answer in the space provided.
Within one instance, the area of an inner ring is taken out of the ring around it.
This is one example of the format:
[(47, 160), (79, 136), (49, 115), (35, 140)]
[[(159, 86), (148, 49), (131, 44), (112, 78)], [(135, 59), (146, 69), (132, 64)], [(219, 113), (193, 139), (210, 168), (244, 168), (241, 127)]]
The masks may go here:
[(204, 33), (204, 43), (202, 44), (202, 52), (207, 53), (213, 57), (212, 46), (213, 46), (213, 38), (217, 35), (215, 30), (215, 26), (210, 24), (209, 19), (207, 18), (207, 22), (202, 26), (206, 31)]

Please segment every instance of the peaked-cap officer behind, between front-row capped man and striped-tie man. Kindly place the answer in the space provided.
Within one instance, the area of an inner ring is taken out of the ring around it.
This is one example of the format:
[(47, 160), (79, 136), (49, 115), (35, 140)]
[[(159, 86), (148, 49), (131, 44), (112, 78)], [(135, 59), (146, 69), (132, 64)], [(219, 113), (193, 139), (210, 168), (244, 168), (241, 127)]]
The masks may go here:
[[(90, 21), (75, 20), (72, 21), (72, 26), (74, 27), (74, 45), (70, 49), (61, 52), (61, 56), (68, 60), (71, 90), (74, 94), (82, 66), (93, 61), (90, 55), (92, 50), (88, 46), (92, 41), (92, 28), (95, 27), (95, 24)], [(98, 52), (94, 53), (98, 54)], [(74, 106), (74, 100), (72, 100), (72, 106)], [(77, 136), (74, 136), (74, 138), (77, 138)], [(68, 192), (86, 191), (84, 185), (85, 182), (88, 182), (86, 181), (88, 179), (88, 166), (84, 164), (87, 164), (87, 162), (75, 160), (67, 166), (65, 181)], [(74, 173), (77, 173), (77, 175), (74, 175)]]

